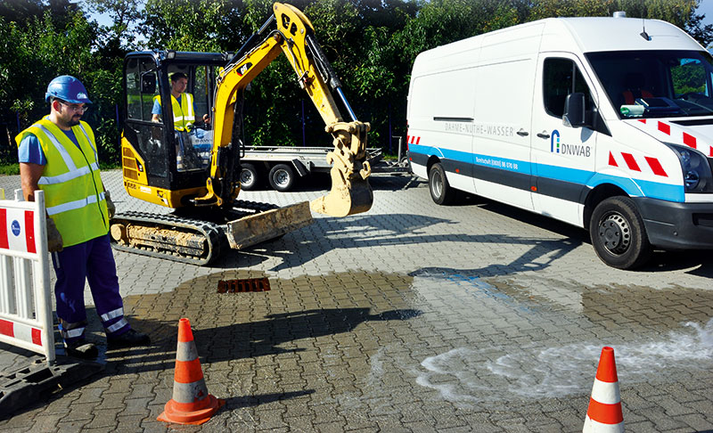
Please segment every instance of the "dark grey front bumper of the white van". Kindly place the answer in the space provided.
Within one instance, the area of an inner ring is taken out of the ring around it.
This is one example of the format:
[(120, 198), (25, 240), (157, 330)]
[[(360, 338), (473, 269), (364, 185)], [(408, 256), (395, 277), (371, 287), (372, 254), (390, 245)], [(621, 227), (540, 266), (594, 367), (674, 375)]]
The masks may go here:
[(713, 249), (713, 203), (633, 199), (654, 247)]

